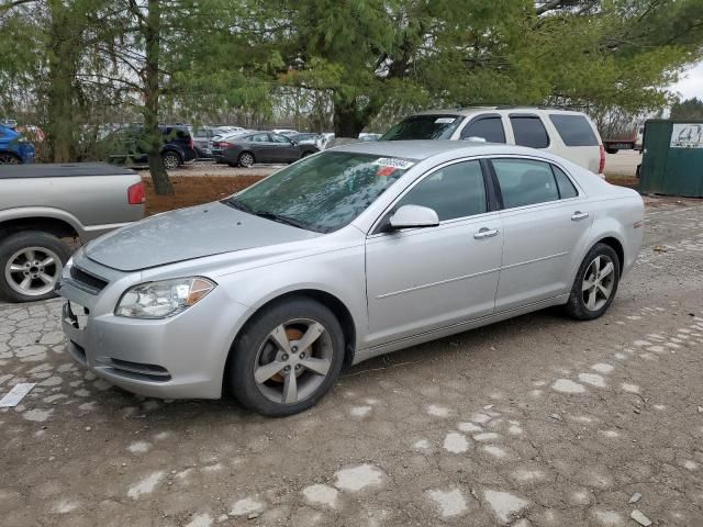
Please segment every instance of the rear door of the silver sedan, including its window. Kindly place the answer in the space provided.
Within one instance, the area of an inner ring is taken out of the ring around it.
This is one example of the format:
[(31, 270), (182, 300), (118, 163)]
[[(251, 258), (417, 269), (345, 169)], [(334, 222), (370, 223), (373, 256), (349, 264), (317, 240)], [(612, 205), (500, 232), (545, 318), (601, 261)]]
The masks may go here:
[(491, 159), (503, 204), (504, 246), (495, 311), (567, 293), (593, 211), (558, 166), (523, 157)]

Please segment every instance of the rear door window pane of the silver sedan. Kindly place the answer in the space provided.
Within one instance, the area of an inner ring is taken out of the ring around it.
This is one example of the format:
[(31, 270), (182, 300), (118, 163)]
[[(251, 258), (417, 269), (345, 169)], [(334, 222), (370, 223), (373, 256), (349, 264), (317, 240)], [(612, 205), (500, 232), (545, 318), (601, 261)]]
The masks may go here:
[(548, 162), (531, 159), (493, 159), (492, 162), (505, 209), (559, 199), (557, 183)]

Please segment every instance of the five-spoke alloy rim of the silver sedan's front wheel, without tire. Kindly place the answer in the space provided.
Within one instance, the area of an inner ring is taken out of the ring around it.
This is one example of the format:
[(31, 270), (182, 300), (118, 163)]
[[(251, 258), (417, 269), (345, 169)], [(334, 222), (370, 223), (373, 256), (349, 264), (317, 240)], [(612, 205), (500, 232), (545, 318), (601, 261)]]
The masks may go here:
[(333, 341), (325, 327), (295, 318), (271, 330), (256, 356), (254, 380), (271, 402), (294, 404), (315, 393), (330, 372)]

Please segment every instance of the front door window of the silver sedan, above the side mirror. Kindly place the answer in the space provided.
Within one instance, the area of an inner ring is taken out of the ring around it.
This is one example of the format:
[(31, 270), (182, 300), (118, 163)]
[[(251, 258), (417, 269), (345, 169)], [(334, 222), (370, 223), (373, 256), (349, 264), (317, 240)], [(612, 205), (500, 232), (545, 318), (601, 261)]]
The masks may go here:
[(439, 221), (486, 212), (486, 187), (479, 161), (461, 161), (442, 168), (417, 183), (398, 203), (433, 209)]

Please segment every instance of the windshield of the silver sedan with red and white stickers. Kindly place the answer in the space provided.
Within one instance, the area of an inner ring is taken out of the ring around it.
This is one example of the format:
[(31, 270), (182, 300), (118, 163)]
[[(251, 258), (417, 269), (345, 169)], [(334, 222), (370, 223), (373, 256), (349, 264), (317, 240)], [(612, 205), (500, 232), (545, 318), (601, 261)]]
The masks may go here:
[(349, 152), (311, 156), (226, 200), (250, 214), (331, 233), (347, 225), (414, 161)]

